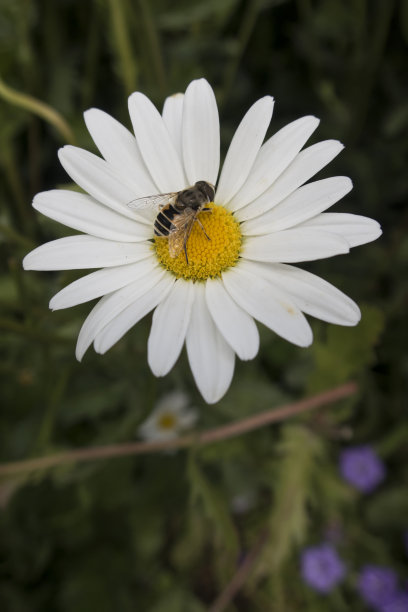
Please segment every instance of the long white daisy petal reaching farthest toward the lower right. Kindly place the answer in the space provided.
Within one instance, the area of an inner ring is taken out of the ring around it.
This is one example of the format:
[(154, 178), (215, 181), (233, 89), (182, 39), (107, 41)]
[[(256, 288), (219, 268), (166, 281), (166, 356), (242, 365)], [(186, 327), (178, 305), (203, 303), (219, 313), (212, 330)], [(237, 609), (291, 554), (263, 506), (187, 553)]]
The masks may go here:
[(357, 325), (361, 318), (353, 300), (315, 274), (285, 264), (250, 262), (249, 265), (254, 273), (286, 291), (303, 312), (317, 319), (337, 325)]

